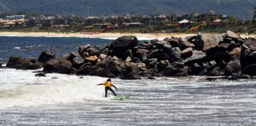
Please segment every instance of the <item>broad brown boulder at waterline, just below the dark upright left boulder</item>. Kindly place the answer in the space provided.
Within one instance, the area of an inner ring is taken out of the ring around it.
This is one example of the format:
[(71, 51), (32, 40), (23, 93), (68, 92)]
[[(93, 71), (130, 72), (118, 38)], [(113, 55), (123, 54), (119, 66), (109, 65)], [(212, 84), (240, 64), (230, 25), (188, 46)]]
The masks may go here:
[(72, 64), (65, 58), (54, 58), (45, 63), (43, 67), (43, 72), (58, 72), (70, 74), (72, 72)]

